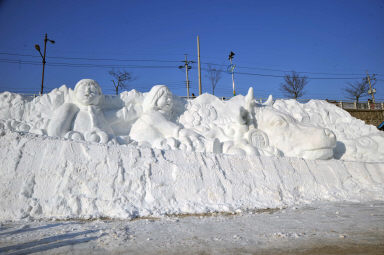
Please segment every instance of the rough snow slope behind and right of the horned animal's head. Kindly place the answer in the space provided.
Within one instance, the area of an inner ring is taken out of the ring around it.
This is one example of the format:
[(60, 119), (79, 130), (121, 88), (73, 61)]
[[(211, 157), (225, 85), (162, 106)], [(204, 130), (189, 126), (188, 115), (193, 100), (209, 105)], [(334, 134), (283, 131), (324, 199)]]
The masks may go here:
[(384, 133), (353, 118), (347, 111), (325, 101), (277, 100), (273, 108), (290, 114), (298, 122), (332, 130), (337, 137), (334, 157), (355, 161), (384, 161)]

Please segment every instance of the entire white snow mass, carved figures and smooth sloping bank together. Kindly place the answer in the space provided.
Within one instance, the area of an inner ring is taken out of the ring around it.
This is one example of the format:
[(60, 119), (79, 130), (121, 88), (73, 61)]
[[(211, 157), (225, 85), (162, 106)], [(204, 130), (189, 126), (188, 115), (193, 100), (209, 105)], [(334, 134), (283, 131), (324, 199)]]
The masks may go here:
[(384, 200), (383, 133), (323, 101), (108, 97), (88, 79), (0, 106), (0, 221)]

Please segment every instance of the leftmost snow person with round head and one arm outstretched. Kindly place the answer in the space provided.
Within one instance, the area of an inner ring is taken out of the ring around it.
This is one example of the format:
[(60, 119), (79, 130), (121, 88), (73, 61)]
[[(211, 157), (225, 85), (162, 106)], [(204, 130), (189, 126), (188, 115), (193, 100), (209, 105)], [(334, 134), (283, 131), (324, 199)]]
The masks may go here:
[(94, 80), (80, 80), (74, 94), (73, 102), (64, 103), (55, 111), (47, 128), (48, 135), (106, 143), (114, 137), (113, 123), (137, 118), (135, 112), (128, 112), (125, 107), (104, 112), (104, 96)]

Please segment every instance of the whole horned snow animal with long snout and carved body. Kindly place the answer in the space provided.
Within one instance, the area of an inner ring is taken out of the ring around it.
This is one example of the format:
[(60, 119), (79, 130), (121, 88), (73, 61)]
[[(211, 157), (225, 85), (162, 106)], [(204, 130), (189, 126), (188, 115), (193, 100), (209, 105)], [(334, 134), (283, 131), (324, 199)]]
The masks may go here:
[[(333, 157), (336, 145), (333, 132), (299, 123), (288, 114), (273, 109), (271, 104), (272, 98), (266, 105), (257, 104), (252, 88), (247, 96), (237, 96), (227, 102), (203, 95), (190, 103), (180, 122), (203, 136), (217, 137), (223, 143), (224, 153), (307, 159)], [(204, 121), (209, 118), (209, 123)]]

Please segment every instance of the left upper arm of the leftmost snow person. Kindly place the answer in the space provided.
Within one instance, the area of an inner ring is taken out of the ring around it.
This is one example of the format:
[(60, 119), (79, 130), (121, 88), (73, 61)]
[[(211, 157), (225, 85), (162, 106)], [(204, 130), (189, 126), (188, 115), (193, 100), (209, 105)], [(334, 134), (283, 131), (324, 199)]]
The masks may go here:
[(79, 108), (71, 103), (63, 104), (54, 112), (54, 116), (51, 119), (47, 133), (49, 136), (64, 136), (71, 130), (71, 124)]

